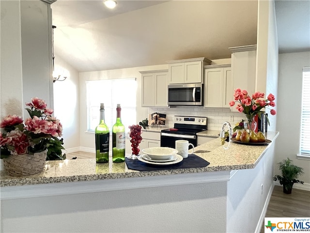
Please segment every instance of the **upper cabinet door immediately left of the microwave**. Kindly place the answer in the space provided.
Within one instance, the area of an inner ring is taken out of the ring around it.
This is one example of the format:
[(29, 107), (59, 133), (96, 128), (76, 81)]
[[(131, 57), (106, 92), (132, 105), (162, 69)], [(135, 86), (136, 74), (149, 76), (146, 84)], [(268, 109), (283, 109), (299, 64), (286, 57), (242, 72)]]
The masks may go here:
[(155, 74), (155, 106), (168, 107), (167, 73)]

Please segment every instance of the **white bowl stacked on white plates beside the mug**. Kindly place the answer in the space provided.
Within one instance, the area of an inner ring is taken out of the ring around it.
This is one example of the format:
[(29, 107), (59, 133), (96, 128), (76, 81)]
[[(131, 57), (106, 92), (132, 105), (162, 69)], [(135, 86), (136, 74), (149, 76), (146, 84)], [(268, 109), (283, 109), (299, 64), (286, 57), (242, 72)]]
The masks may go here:
[(183, 157), (177, 154), (178, 150), (169, 147), (150, 147), (143, 149), (142, 153), (138, 160), (147, 164), (171, 165), (183, 160)]

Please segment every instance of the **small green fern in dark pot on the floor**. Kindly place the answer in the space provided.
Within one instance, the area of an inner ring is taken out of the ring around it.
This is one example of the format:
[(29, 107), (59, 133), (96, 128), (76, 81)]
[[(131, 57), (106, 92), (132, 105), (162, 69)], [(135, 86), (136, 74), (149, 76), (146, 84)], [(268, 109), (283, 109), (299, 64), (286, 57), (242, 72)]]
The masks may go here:
[(293, 189), (294, 183), (301, 183), (304, 182), (297, 180), (300, 175), (302, 175), (303, 168), (296, 166), (293, 164), (293, 160), (287, 158), (283, 159), (281, 162), (278, 163), (279, 169), (281, 171), (281, 176), (276, 175), (273, 180), (279, 181), (281, 185), (283, 185), (283, 192), (286, 194), (291, 194)]

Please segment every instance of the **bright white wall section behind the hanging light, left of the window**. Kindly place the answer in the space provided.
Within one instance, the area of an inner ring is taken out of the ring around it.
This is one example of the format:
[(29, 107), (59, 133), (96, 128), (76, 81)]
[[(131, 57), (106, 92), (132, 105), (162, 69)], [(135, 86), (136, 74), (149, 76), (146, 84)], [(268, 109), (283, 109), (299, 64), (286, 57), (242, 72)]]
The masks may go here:
[(53, 86), (54, 116), (62, 123), (63, 147), (78, 148), (80, 145), (78, 71), (58, 57), (55, 51), (55, 72), (67, 76), (65, 81), (56, 81)]

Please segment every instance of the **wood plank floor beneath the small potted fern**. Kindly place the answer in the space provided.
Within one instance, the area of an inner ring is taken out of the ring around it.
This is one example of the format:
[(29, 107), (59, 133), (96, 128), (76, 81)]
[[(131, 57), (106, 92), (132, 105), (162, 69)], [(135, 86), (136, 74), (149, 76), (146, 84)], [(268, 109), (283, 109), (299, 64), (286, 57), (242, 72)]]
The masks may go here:
[[(292, 194), (285, 194), (283, 186), (276, 185), (265, 217), (310, 217), (310, 191), (293, 186)], [(261, 233), (264, 233), (264, 224)]]

